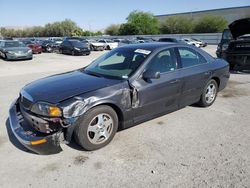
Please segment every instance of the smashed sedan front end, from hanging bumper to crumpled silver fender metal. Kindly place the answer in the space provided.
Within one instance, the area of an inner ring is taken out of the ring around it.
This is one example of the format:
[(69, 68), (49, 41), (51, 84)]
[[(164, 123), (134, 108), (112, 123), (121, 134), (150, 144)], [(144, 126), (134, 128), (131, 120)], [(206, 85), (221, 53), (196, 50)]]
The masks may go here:
[[(30, 104), (30, 107), (28, 107)], [(13, 134), (27, 149), (42, 155), (62, 151), (61, 143), (71, 141), (74, 123), (84, 112), (84, 102), (77, 101), (65, 108), (67, 117), (46, 117), (32, 112), (29, 99), (20, 95), (9, 110), (10, 127)], [(69, 116), (70, 113), (73, 113)]]

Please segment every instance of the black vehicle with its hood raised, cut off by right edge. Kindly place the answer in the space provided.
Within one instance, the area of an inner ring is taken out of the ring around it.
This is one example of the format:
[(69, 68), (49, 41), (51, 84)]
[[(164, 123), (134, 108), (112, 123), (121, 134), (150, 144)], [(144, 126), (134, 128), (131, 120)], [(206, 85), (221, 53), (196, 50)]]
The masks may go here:
[(217, 57), (227, 60), (230, 69), (250, 67), (250, 18), (236, 20), (225, 29)]

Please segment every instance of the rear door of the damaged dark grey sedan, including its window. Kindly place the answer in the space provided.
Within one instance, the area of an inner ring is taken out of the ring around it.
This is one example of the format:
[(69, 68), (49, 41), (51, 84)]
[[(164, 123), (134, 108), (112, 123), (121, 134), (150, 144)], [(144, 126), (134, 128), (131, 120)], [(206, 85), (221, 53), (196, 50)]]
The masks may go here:
[(176, 52), (183, 79), (180, 107), (184, 107), (199, 101), (212, 72), (209, 62), (196, 50), (189, 47), (178, 47)]

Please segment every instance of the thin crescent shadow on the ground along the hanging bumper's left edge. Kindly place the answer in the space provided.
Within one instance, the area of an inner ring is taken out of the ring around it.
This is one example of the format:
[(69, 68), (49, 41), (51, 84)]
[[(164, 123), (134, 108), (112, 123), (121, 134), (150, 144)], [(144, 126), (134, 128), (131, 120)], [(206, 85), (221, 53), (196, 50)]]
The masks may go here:
[(26, 153), (30, 153), (30, 154), (35, 154), (37, 155), (36, 153), (28, 150), (26, 147), (24, 147), (20, 142), (19, 140), (15, 137), (15, 135), (13, 134), (11, 128), (10, 128), (10, 121), (9, 121), (9, 118), (6, 120), (5, 122), (5, 126), (6, 126), (6, 130), (7, 130), (7, 133), (8, 133), (8, 137), (9, 137), (9, 140), (10, 142), (19, 150), (21, 151), (24, 151)]

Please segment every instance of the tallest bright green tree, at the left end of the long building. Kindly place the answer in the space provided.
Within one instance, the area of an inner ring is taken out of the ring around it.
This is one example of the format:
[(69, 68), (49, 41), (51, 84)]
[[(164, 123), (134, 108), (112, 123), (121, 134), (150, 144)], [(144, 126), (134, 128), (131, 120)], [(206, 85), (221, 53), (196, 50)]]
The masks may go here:
[(127, 17), (127, 23), (119, 30), (122, 35), (150, 35), (159, 33), (159, 23), (153, 14), (142, 11), (132, 11)]

